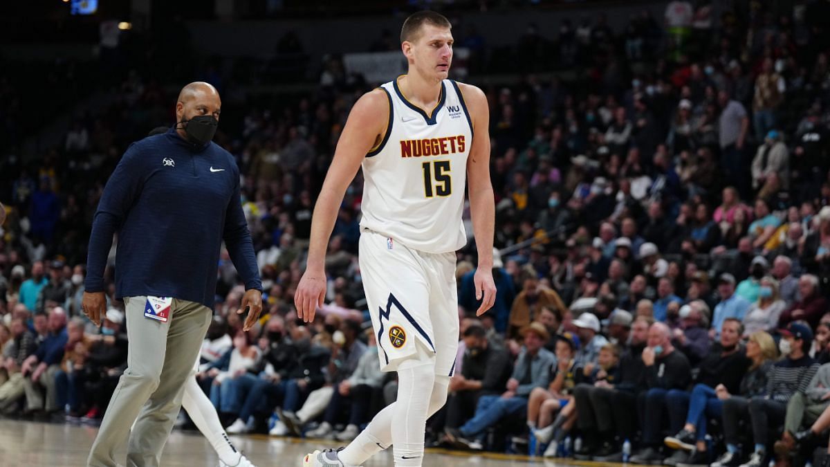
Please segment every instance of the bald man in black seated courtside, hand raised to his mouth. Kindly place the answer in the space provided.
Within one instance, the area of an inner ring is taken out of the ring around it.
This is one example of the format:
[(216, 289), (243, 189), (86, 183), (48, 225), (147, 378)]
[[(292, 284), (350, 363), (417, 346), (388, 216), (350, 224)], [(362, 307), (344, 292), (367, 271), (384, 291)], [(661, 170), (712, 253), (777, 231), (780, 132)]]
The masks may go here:
[(655, 322), (648, 330), (648, 347), (642, 351), (645, 366), (644, 387), (637, 395), (637, 409), (642, 420), (641, 449), (631, 458), (634, 464), (662, 462), (657, 447), (662, 445), (663, 414), (666, 394), (671, 389), (685, 389), (691, 381), (689, 360), (671, 345), (671, 331), (665, 323)]

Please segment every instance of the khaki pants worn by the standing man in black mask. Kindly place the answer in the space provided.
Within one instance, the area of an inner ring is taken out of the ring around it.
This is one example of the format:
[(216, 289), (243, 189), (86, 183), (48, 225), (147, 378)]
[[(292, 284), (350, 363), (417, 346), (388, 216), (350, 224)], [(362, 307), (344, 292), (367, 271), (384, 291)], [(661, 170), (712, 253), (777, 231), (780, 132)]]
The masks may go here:
[(124, 301), (127, 369), (92, 445), (90, 467), (117, 465), (115, 451), (125, 447), (129, 467), (159, 465), (182, 406), (184, 381), (193, 374), (193, 361), (212, 319), (210, 308), (201, 303), (173, 298), (168, 322), (159, 322), (144, 317), (147, 297), (125, 297)]

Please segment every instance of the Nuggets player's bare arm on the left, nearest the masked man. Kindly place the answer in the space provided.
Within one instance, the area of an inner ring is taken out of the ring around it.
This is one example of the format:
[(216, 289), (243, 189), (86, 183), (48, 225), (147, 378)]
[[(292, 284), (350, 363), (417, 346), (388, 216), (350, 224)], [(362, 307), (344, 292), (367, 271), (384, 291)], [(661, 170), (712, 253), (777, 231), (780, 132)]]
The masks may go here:
[(311, 217), (311, 237), (305, 273), (294, 293), (297, 317), (312, 322), (316, 307), (325, 297), (325, 250), (343, 196), (364, 157), (388, 130), (389, 104), (381, 89), (370, 91), (354, 103), (343, 133), (337, 141), (334, 159), (325, 175), (320, 197)]

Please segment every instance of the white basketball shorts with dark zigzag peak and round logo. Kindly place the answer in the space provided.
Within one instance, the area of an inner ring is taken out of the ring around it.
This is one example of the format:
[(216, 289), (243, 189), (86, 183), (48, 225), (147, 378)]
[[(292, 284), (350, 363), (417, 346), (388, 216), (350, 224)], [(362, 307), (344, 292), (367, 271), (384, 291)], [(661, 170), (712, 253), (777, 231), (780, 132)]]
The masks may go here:
[(424, 253), (364, 229), (360, 274), (383, 371), (435, 356), (435, 374), (452, 376), (458, 350), (456, 253)]

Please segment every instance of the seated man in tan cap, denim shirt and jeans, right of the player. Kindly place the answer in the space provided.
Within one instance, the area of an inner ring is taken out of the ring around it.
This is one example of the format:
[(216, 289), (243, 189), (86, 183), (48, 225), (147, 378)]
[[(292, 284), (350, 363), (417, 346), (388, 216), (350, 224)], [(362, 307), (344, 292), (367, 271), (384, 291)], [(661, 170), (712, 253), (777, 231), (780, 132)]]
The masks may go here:
[(525, 345), (513, 367), (513, 375), (507, 381), (507, 391), (500, 396), (481, 396), (476, 415), (457, 430), (447, 429), (447, 437), (452, 443), (481, 450), (487, 428), (505, 416), (524, 415), (530, 391), (548, 386), (550, 369), (556, 364), (556, 356), (543, 347), (550, 338), (548, 330), (540, 322), (531, 322), (520, 334), (525, 337)]

